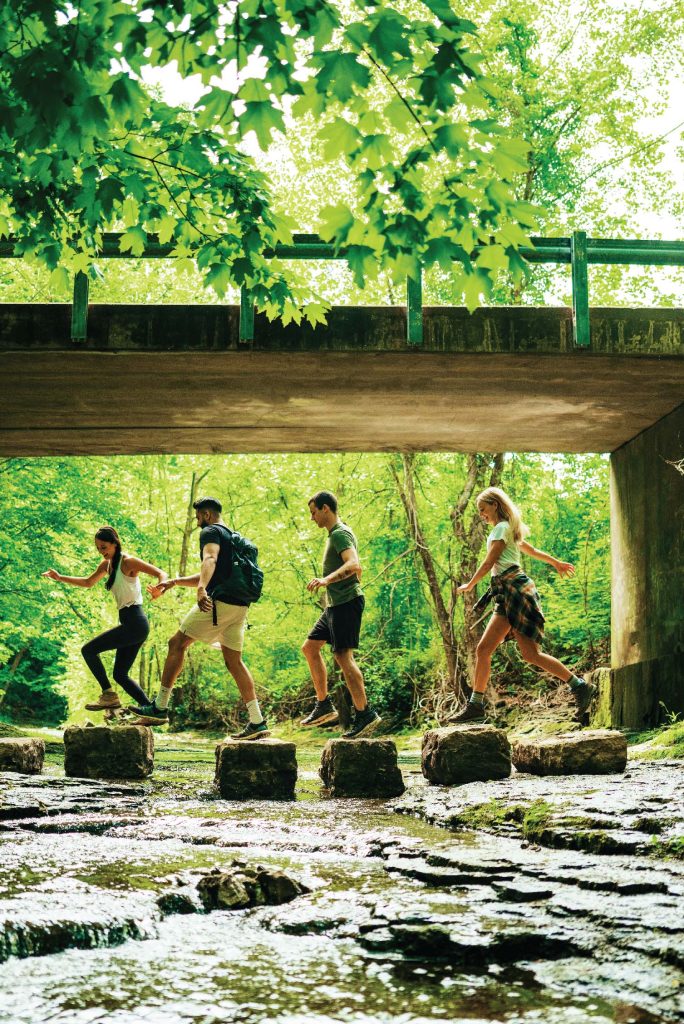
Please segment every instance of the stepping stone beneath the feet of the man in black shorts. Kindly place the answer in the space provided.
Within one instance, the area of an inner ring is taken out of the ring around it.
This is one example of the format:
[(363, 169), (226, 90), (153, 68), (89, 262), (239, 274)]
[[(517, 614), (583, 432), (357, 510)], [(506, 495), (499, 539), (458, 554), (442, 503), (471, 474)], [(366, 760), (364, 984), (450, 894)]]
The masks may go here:
[(391, 739), (329, 739), (318, 771), (331, 797), (400, 797), (405, 786)]

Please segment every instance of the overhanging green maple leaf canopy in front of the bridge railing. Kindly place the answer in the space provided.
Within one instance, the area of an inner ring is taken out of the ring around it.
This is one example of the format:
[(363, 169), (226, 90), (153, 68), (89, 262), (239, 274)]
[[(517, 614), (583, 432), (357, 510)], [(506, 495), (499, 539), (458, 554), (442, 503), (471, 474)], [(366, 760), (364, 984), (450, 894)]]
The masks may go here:
[[(247, 286), (270, 315), (307, 306), (315, 322), (322, 304), (267, 255), (294, 225), (246, 144), (314, 117), (354, 202), (311, 227), (345, 247), (355, 282), (461, 261), (457, 292), (474, 307), (498, 271), (521, 273), (535, 223), (515, 187), (528, 147), (493, 116), (474, 34), (446, 0), (418, 17), (373, 0), (5, 5), (0, 232), (59, 287), (96, 274), (108, 229), (134, 256), (154, 234), (219, 296)], [(164, 102), (144, 86), (149, 68), (198, 76), (200, 98)]]

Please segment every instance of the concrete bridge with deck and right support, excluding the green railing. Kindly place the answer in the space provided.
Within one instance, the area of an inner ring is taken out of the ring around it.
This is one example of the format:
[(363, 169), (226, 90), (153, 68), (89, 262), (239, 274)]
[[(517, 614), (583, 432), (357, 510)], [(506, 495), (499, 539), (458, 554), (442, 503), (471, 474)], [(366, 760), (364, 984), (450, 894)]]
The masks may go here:
[[(231, 306), (0, 306), (0, 455), (611, 453), (611, 720), (684, 712), (684, 311), (337, 307), (240, 340)], [(606, 496), (607, 500), (607, 496)]]

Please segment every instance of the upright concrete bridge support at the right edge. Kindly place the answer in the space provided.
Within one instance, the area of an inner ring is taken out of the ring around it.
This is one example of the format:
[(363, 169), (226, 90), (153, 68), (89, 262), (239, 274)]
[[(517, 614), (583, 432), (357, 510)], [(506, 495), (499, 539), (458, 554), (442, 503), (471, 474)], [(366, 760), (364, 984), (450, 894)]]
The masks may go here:
[[(613, 726), (684, 714), (684, 406), (610, 457)], [(662, 707), (665, 706), (665, 708)]]

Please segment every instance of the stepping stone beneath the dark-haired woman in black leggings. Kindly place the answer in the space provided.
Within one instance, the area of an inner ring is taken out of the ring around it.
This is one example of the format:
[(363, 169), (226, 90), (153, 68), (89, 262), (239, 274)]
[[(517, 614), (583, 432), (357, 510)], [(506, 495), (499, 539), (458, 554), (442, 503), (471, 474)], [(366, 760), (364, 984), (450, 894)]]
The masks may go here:
[(144, 725), (65, 730), (65, 774), (77, 778), (146, 778), (155, 766), (155, 740)]

